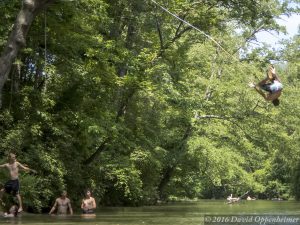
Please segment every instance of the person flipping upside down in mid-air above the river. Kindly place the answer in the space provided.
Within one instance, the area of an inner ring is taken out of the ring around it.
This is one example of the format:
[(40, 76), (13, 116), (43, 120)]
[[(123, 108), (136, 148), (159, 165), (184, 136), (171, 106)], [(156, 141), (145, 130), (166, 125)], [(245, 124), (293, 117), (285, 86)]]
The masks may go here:
[(271, 101), (274, 106), (279, 105), (280, 101), (278, 98), (281, 95), (283, 85), (275, 72), (274, 66), (270, 66), (265, 79), (257, 84), (250, 82), (249, 87), (254, 88), (266, 101)]

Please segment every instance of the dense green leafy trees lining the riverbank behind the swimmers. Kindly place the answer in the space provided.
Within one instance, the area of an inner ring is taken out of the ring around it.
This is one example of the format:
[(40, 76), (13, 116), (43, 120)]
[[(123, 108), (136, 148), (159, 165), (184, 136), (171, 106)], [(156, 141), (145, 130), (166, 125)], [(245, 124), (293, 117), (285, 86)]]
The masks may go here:
[[(19, 2), (0, 3), (0, 49)], [(281, 29), (289, 1), (160, 3), (227, 52), (151, 1), (57, 1), (36, 17), (0, 111), (2, 162), (13, 151), (38, 171), (21, 176), (31, 210), (63, 189), (75, 205), (85, 188), (105, 205), (300, 197), (299, 35), (281, 52), (248, 50)], [(285, 62), (276, 108), (247, 88), (270, 60)]]

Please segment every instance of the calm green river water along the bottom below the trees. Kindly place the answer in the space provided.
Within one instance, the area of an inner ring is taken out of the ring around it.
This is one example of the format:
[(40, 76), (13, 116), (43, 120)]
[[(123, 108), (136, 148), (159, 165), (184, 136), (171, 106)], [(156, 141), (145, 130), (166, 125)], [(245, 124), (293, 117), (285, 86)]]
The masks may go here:
[(97, 210), (95, 218), (83, 218), (80, 214), (63, 217), (22, 213), (18, 218), (0, 218), (0, 224), (203, 225), (205, 215), (297, 215), (300, 217), (300, 202), (257, 200), (228, 205), (224, 201), (202, 200), (159, 206), (103, 207)]

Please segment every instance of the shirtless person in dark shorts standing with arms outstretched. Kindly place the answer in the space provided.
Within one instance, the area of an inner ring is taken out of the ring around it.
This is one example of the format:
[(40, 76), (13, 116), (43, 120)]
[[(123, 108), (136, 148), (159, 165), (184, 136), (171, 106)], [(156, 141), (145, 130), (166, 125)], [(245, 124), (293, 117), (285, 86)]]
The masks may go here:
[(18, 212), (22, 212), (23, 211), (23, 207), (22, 207), (22, 199), (19, 193), (19, 189), (20, 189), (20, 184), (19, 184), (19, 168), (25, 170), (25, 171), (31, 171), (36, 173), (35, 170), (32, 170), (24, 165), (22, 165), (21, 163), (19, 163), (16, 160), (16, 155), (13, 153), (10, 153), (8, 156), (8, 163), (5, 163), (3, 165), (0, 165), (0, 168), (7, 168), (9, 171), (9, 175), (10, 175), (10, 180), (7, 181), (4, 185), (4, 188), (2, 188), (0, 190), (0, 200), (2, 201), (2, 196), (4, 192), (7, 193), (12, 193), (13, 195), (15, 195), (18, 199), (19, 202), (19, 210)]

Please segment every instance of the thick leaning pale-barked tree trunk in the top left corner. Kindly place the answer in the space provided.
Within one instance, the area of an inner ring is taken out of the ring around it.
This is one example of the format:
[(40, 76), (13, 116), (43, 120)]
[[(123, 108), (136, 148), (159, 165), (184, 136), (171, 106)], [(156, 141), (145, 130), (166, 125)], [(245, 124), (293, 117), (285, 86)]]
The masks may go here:
[(3, 86), (19, 51), (26, 45), (26, 37), (36, 15), (55, 0), (23, 0), (13, 29), (0, 57), (0, 108)]

